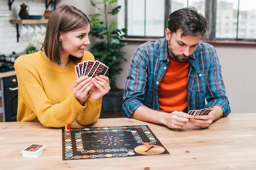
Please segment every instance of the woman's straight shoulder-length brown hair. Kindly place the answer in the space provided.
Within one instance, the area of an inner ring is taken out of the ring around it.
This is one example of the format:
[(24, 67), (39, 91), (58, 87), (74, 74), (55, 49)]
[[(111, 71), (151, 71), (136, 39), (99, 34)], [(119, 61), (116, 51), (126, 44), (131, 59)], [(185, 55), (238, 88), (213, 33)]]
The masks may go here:
[[(41, 50), (45, 51), (45, 55), (50, 61), (61, 67), (66, 67), (66, 63), (63, 63), (61, 60), (60, 32), (76, 31), (90, 24), (88, 16), (79, 9), (76, 9), (76, 7), (71, 5), (58, 7), (49, 18)], [(70, 60), (74, 63), (79, 63), (81, 58), (70, 55)]]

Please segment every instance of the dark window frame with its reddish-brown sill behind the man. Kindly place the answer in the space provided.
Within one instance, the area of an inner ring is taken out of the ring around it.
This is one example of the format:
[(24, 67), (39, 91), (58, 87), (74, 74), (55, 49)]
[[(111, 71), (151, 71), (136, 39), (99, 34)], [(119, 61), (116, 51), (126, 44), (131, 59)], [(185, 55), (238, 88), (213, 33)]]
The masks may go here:
[[(239, 1), (239, 0), (238, 0)], [(167, 28), (168, 17), (171, 12), (171, 0), (164, 0), (165, 10), (164, 10), (164, 28)], [(127, 0), (125, 0), (125, 28), (127, 28)], [(207, 11), (207, 12), (206, 12)], [(231, 41), (234, 42), (256, 42), (256, 39), (248, 39), (248, 38), (238, 38), (238, 23), (239, 23), (239, 7), (238, 7), (238, 15), (237, 15), (237, 29), (236, 29), (236, 38), (216, 38), (216, 13), (217, 13), (217, 0), (205, 0), (205, 17), (208, 21), (208, 34), (209, 37), (207, 41)], [(164, 32), (164, 30), (163, 30)], [(165, 36), (163, 36), (165, 37)], [(159, 39), (163, 37), (157, 36), (131, 36), (126, 35), (127, 39)]]

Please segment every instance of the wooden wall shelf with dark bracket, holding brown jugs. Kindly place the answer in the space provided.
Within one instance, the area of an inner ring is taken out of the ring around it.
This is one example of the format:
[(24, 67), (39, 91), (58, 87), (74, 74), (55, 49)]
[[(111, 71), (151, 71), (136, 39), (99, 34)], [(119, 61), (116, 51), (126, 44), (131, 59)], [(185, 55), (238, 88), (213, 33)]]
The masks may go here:
[(41, 20), (10, 20), (11, 24), (16, 24), (16, 31), (17, 31), (17, 42), (19, 42), (19, 24), (47, 24), (48, 19), (41, 19)]

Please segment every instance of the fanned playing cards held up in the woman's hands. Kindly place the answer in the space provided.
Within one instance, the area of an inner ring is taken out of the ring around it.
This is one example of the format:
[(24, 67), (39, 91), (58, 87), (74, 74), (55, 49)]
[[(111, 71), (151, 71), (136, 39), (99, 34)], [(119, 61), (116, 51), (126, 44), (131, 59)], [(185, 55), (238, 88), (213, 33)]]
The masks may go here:
[(99, 76), (99, 75), (105, 75), (108, 71), (108, 66), (106, 66), (104, 63), (101, 63), (100, 61), (83, 61), (82, 63), (78, 63), (78, 65), (75, 65), (76, 70), (76, 76), (77, 78), (80, 78), (82, 76)]

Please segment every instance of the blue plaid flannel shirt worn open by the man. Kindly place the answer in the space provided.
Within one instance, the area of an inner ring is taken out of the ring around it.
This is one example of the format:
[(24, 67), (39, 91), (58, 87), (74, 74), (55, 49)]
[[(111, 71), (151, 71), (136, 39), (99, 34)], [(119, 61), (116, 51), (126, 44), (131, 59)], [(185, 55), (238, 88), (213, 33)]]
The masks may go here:
[[(140, 106), (160, 110), (158, 86), (169, 62), (166, 38), (155, 42), (148, 41), (137, 48), (130, 63), (124, 89), (125, 116), (133, 118), (133, 112)], [(188, 111), (217, 105), (223, 109), (222, 117), (228, 116), (231, 110), (215, 48), (200, 41), (189, 62)]]

